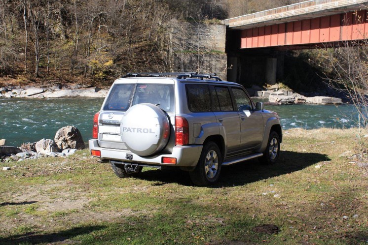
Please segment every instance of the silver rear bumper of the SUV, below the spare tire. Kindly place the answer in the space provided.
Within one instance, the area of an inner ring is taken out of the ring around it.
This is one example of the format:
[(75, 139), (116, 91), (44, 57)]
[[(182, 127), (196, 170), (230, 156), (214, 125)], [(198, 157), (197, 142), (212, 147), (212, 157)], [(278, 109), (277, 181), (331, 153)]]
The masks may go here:
[[(88, 146), (90, 152), (91, 150), (101, 152), (101, 157), (99, 157), (100, 159), (108, 159), (132, 163), (144, 163), (148, 165), (151, 164), (151, 165), (180, 166), (180, 167), (196, 166), (203, 148), (202, 145), (175, 146), (171, 154), (159, 154), (144, 157), (132, 153), (128, 150), (102, 148), (98, 145), (97, 139), (89, 140)], [(126, 158), (127, 153), (133, 155), (133, 160)], [(177, 163), (175, 165), (162, 163), (162, 157), (175, 157), (177, 159)]]

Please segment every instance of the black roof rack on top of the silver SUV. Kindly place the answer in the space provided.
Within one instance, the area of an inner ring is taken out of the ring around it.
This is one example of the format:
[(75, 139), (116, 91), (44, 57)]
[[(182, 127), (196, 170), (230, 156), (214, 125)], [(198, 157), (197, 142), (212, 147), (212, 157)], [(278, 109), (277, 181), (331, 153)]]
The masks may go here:
[(167, 76), (176, 76), (178, 79), (185, 78), (200, 78), (203, 80), (207, 79), (216, 79), (216, 81), (222, 81), (221, 78), (217, 77), (216, 73), (209, 74), (198, 74), (197, 72), (140, 72), (140, 73), (127, 73), (123, 78), (126, 77), (167, 77)]

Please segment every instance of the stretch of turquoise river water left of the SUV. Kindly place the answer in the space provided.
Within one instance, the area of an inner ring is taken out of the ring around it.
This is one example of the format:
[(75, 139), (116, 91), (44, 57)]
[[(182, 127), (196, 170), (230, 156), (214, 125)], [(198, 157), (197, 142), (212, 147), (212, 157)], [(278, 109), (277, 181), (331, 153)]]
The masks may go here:
[(83, 140), (92, 137), (93, 116), (101, 108), (103, 99), (0, 99), (0, 139), (8, 146), (54, 139), (57, 130), (73, 125)]

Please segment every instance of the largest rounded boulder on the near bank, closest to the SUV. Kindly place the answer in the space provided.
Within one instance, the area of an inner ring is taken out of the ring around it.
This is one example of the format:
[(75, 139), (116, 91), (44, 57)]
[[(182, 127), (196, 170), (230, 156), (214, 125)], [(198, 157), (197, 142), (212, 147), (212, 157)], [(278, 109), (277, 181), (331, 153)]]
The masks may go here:
[(55, 134), (56, 145), (62, 149), (84, 149), (84, 141), (79, 130), (74, 126), (60, 128)]

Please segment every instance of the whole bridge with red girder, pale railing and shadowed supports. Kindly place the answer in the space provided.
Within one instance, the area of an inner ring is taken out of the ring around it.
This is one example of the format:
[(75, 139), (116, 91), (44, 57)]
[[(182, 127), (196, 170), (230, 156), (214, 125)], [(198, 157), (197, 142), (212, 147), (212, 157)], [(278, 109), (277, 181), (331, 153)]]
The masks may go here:
[(368, 0), (309, 0), (224, 20), (227, 79), (274, 84), (284, 51), (349, 45), (368, 38)]

